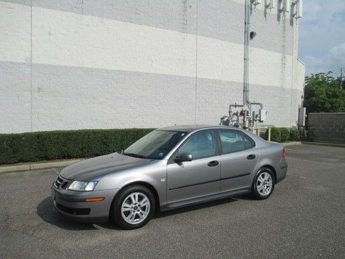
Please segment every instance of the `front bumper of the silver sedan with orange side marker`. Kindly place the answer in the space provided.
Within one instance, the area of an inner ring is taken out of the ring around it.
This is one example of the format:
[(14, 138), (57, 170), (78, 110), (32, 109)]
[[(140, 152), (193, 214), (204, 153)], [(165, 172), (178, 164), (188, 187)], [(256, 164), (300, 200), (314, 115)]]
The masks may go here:
[[(52, 199), (59, 213), (79, 222), (107, 222), (112, 200), (119, 189), (106, 191), (69, 191), (52, 186)], [(87, 198), (104, 197), (101, 202), (85, 202)]]

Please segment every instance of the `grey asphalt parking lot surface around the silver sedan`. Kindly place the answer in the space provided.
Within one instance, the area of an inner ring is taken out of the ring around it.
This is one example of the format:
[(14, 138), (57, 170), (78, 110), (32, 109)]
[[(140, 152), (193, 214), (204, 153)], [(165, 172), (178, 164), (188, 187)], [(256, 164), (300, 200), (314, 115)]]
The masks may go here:
[(159, 213), (134, 231), (59, 215), (50, 199), (59, 169), (3, 173), (0, 258), (344, 258), (345, 148), (286, 153), (288, 175), (268, 200)]

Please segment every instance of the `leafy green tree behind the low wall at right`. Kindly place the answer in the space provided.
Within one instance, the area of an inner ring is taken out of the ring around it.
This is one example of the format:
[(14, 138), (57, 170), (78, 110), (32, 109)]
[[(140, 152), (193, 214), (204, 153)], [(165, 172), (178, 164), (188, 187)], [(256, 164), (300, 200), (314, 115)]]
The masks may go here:
[(332, 72), (306, 77), (304, 106), (307, 113), (344, 113), (345, 90)]

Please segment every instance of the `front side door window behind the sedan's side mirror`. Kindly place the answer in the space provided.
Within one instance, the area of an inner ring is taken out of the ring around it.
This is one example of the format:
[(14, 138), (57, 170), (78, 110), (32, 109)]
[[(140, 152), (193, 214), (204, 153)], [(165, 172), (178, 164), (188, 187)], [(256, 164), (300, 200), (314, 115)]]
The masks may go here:
[(215, 135), (212, 130), (194, 133), (179, 148), (179, 154), (191, 154), (193, 160), (211, 157), (215, 155), (215, 151)]

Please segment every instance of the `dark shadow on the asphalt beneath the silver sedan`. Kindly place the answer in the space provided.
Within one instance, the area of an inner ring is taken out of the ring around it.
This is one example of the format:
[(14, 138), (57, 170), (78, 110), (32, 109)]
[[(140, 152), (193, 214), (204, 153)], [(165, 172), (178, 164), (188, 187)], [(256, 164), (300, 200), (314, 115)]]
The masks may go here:
[[(216, 207), (221, 204), (235, 202), (237, 200), (253, 200), (253, 199), (250, 198), (250, 195), (239, 195), (232, 198), (224, 198), (224, 199), (215, 200), (212, 202), (205, 202), (201, 204), (190, 205), (188, 207), (173, 209), (171, 211), (157, 211), (155, 215), (152, 217), (152, 220), (155, 218), (165, 218), (165, 217), (169, 217), (169, 216), (177, 215), (181, 213), (188, 213), (190, 211), (197, 211), (199, 209)], [(92, 223), (77, 222), (75, 220), (66, 218), (55, 209), (51, 197), (45, 198), (37, 205), (37, 215), (39, 215), (39, 217), (45, 222), (55, 225), (56, 227), (59, 227), (61, 229), (66, 229), (66, 230), (74, 230), (74, 231), (99, 230), (97, 228), (97, 225), (99, 227), (103, 227), (106, 229), (122, 230), (119, 227), (117, 227), (115, 224), (113, 224), (112, 222), (92, 224)]]

